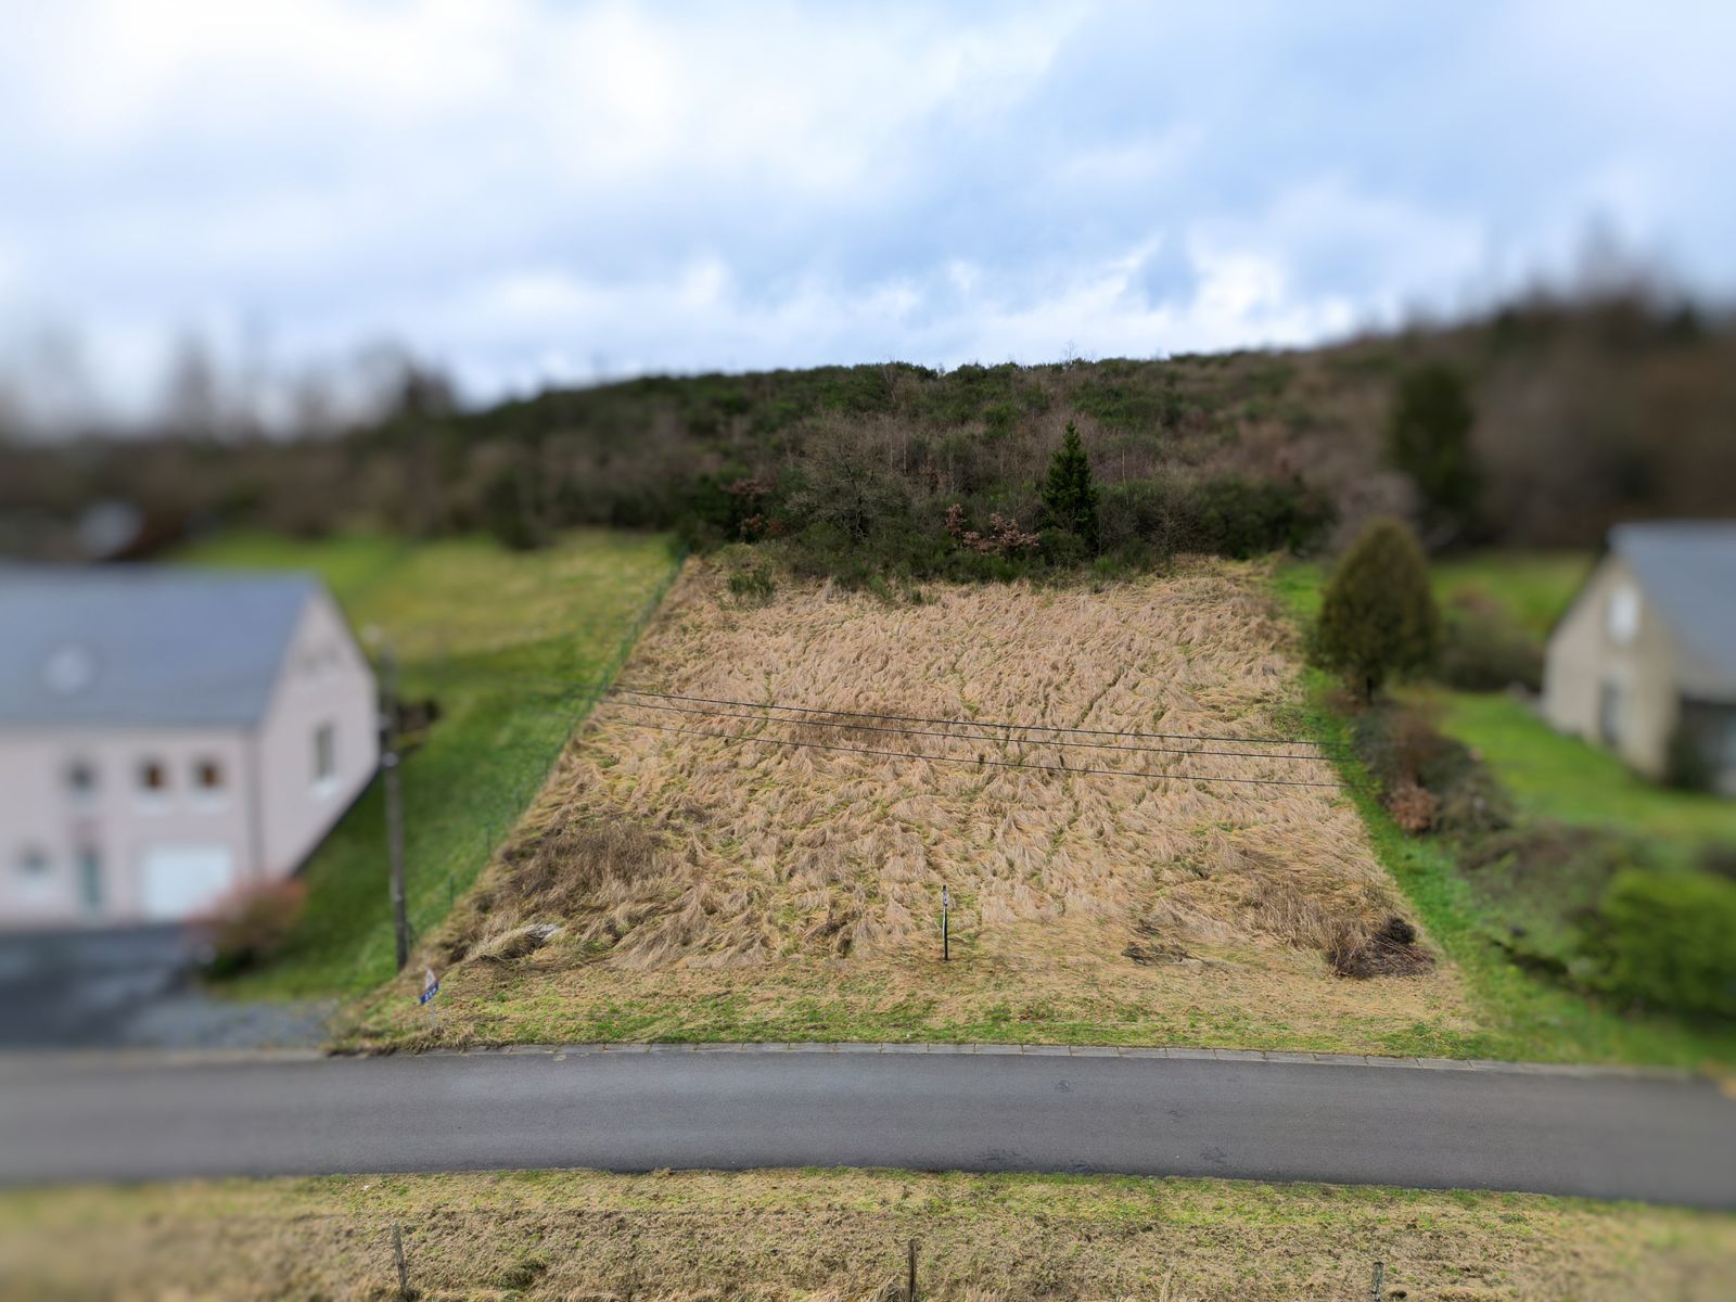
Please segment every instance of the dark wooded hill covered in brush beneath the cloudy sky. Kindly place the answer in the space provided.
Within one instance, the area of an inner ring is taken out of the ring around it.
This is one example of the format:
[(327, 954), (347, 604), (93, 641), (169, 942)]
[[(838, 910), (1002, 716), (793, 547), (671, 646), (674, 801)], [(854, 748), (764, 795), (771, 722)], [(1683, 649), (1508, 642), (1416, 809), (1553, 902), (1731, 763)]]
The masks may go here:
[(398, 415), (328, 441), (0, 441), (0, 543), (64, 550), (82, 503), (125, 496), (153, 521), (490, 528), (519, 547), (658, 526), (854, 582), (993, 578), (1082, 559), (1017, 542), (1075, 422), (1111, 566), (1332, 549), (1373, 512), (1424, 514), (1387, 434), (1425, 366), (1458, 377), (1476, 469), (1474, 510), (1437, 545), (1594, 547), (1623, 517), (1736, 512), (1736, 332), (1625, 293), (1312, 351), (649, 377), (477, 411), (408, 385)]

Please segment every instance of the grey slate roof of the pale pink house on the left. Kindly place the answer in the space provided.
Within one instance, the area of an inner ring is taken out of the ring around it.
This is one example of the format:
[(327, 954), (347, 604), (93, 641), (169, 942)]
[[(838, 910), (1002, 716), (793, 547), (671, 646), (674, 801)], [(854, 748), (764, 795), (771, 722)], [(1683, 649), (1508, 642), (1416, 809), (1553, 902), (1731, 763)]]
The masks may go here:
[(319, 590), (311, 575), (0, 566), (0, 727), (245, 727)]

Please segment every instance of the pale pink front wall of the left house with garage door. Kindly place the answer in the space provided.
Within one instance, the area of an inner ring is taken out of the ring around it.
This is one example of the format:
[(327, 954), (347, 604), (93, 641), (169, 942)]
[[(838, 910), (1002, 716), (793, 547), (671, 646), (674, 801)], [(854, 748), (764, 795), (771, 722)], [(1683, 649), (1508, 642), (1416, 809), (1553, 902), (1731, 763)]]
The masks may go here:
[[(160, 766), (161, 786), (142, 781)], [(217, 785), (200, 783), (215, 766)], [(73, 781), (75, 769), (90, 774)], [(24, 729), (0, 733), (0, 927), (144, 920), (148, 854), (252, 854), (252, 745), (240, 729)], [(94, 856), (95, 898), (80, 861)]]

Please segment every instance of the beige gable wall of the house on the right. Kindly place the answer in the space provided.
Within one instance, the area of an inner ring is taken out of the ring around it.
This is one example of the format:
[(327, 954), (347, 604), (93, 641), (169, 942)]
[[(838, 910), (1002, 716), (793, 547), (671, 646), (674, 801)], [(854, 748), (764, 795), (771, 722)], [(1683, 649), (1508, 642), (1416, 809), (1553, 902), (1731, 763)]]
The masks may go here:
[[(1623, 604), (1632, 604), (1632, 620), (1621, 618)], [(1634, 571), (1620, 556), (1606, 556), (1549, 639), (1543, 715), (1661, 778), (1680, 710), (1674, 665), (1670, 630)], [(1616, 700), (1614, 738), (1604, 736), (1606, 689)]]

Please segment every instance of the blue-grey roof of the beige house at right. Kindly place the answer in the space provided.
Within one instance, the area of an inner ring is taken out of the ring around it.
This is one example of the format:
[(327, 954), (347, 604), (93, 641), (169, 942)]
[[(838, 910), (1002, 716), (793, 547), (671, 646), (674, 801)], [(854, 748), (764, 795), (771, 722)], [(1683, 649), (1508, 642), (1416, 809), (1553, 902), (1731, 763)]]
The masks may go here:
[(1670, 628), (1682, 687), (1736, 693), (1736, 521), (1618, 524), (1609, 549)]

